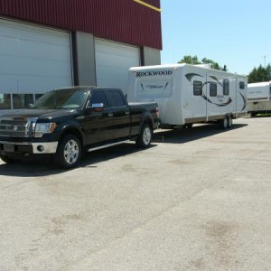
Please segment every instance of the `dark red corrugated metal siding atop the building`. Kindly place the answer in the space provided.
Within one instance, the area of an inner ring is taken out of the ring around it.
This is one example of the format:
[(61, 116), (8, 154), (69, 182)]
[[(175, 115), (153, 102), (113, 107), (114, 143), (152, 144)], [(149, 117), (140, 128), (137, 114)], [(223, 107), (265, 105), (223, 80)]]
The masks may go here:
[(133, 0), (0, 0), (0, 14), (162, 49), (161, 14)]

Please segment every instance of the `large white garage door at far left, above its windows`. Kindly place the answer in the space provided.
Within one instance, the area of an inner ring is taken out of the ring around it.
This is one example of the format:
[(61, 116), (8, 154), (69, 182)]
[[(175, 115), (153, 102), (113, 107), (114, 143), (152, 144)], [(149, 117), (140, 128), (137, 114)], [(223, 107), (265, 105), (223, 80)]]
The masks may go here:
[(70, 33), (0, 20), (0, 94), (72, 85)]

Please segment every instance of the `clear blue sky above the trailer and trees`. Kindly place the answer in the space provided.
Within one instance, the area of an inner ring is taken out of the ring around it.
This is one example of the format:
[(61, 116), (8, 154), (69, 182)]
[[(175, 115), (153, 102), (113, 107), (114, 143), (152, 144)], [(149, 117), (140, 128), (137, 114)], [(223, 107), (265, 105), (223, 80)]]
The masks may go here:
[(271, 0), (161, 0), (162, 63), (186, 54), (248, 74), (271, 62)]

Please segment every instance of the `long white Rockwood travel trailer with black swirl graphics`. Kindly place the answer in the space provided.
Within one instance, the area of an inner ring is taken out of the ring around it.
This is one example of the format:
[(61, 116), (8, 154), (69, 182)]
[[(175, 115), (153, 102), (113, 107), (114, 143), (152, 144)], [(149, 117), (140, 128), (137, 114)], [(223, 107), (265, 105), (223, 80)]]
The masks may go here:
[(247, 113), (248, 79), (188, 64), (129, 70), (128, 101), (157, 102), (161, 127), (219, 121), (223, 128)]

